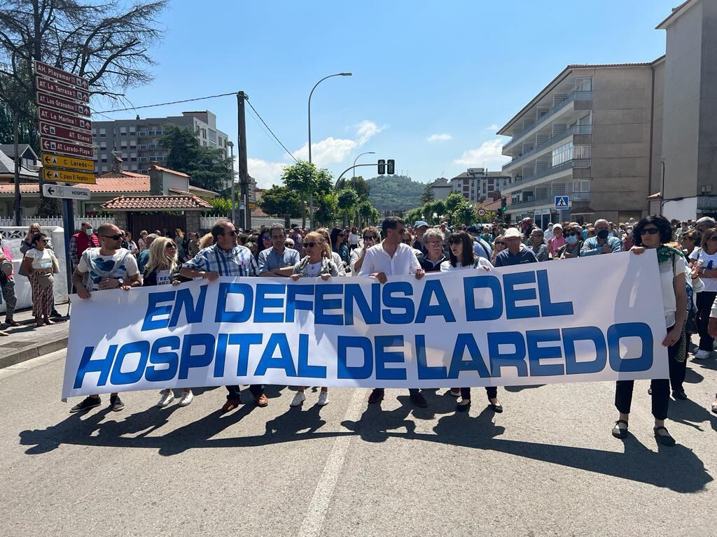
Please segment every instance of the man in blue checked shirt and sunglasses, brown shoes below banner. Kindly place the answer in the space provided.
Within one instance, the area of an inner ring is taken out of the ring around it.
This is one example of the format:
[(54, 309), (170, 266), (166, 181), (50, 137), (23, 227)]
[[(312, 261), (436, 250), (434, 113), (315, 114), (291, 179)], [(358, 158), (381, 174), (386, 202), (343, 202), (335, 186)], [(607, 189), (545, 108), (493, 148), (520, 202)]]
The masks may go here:
[[(182, 265), (179, 274), (185, 278), (206, 278), (214, 281), (219, 276), (258, 276), (257, 261), (249, 248), (237, 243), (237, 230), (228, 220), (218, 220), (212, 226), (214, 244), (208, 246)], [(262, 384), (252, 384), (250, 392), (257, 400), (257, 406), (265, 407), (269, 400), (264, 393)], [(227, 402), (222, 407), (224, 412), (231, 412), (242, 402), (239, 386), (227, 386)]]

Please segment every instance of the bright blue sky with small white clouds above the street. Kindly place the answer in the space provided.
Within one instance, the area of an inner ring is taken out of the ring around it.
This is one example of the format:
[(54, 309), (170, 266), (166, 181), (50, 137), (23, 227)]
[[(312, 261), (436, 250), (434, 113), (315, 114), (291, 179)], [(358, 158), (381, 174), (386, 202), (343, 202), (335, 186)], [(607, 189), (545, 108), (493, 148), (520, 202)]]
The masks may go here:
[[(427, 183), (470, 166), (498, 169), (505, 158), (496, 128), (567, 64), (664, 54), (665, 34), (655, 26), (679, 3), (173, 0), (161, 17), (166, 39), (153, 50), (156, 77), (128, 98), (140, 106), (243, 90), (305, 159), (310, 89), (327, 74), (353, 72), (314, 92), (314, 162), (336, 177), (359, 153), (375, 151), (359, 162), (394, 158), (398, 172)], [(138, 112), (206, 109), (236, 141), (233, 96)], [(249, 172), (261, 187), (279, 183), (293, 160), (248, 116)], [(375, 168), (359, 173), (376, 175)]]

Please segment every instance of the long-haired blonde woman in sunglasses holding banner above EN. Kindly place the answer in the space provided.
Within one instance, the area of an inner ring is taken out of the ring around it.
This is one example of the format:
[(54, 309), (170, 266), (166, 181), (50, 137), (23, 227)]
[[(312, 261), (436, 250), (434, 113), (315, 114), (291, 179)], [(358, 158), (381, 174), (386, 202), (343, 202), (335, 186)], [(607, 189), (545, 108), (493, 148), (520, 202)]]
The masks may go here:
[[(142, 286), (179, 285), (182, 281), (186, 281), (179, 276), (179, 269), (181, 269), (181, 265), (179, 264), (176, 243), (171, 238), (158, 237), (149, 246), (149, 261), (147, 261), (147, 266), (144, 269)], [(191, 389), (184, 388), (179, 399), (179, 406), (189, 406), (193, 399), (194, 395)], [(159, 392), (157, 406), (164, 408), (173, 401), (174, 391), (171, 388), (166, 388)]]

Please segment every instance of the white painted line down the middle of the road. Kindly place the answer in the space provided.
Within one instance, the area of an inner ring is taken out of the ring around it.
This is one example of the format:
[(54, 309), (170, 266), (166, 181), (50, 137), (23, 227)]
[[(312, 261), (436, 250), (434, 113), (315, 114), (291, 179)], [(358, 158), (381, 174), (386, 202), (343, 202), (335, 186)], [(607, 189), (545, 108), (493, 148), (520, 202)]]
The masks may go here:
[[(351, 402), (348, 403), (348, 408), (346, 409), (346, 415), (343, 416), (343, 421), (357, 422), (361, 419), (361, 412), (364, 410), (368, 394), (369, 390), (354, 390)], [(326, 465), (323, 467), (321, 477), (316, 484), (306, 516), (303, 523), (301, 523), (299, 537), (313, 537), (321, 534), (321, 528), (326, 519), (326, 511), (328, 511), (328, 505), (331, 503), (331, 498), (333, 498), (333, 490), (336, 488), (338, 476), (341, 475), (351, 438), (353, 438), (353, 435), (345, 435), (334, 440), (333, 448), (331, 448), (331, 453), (328, 454)]]

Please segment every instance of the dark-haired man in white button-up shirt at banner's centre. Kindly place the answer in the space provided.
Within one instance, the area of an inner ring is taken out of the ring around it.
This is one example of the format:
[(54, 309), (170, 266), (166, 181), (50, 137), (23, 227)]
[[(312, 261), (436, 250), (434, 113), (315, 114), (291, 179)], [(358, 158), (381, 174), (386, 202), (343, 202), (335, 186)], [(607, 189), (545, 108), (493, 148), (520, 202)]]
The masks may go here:
[[(417, 280), (422, 279), (426, 273), (421, 268), (413, 248), (402, 243), (406, 233), (404, 221), (397, 216), (389, 216), (381, 224), (381, 228), (384, 232), (384, 240), (366, 250), (359, 276), (371, 276), (381, 284), (386, 283), (388, 276), (414, 274)], [(428, 406), (426, 398), (418, 388), (411, 388), (409, 392), (414, 405), (421, 408)], [(374, 388), (369, 396), (369, 403), (381, 402), (383, 398), (384, 388)]]

